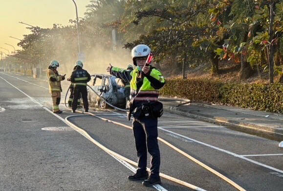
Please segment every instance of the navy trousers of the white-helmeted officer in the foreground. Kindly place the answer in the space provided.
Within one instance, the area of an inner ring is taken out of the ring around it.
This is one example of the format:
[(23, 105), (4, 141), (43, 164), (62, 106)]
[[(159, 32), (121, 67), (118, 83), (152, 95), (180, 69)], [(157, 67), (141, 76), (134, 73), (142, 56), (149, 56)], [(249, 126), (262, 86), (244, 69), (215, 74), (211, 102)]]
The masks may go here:
[(146, 172), (148, 148), (148, 152), (151, 154), (151, 176), (158, 177), (160, 168), (160, 151), (157, 142), (157, 118), (134, 118), (132, 126), (138, 156), (137, 171), (142, 173)]

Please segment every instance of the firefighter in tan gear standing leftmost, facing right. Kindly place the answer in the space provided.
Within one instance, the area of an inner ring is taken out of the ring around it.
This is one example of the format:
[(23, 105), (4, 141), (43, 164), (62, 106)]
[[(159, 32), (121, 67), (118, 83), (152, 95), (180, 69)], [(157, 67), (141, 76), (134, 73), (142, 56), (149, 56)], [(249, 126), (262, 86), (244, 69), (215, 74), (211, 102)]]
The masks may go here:
[(61, 100), (61, 81), (65, 79), (65, 75), (59, 75), (57, 68), (59, 67), (59, 62), (56, 60), (51, 61), (47, 70), (47, 77), (49, 83), (49, 93), (51, 93), (53, 101), (53, 113), (61, 114), (62, 111), (59, 110), (59, 104)]

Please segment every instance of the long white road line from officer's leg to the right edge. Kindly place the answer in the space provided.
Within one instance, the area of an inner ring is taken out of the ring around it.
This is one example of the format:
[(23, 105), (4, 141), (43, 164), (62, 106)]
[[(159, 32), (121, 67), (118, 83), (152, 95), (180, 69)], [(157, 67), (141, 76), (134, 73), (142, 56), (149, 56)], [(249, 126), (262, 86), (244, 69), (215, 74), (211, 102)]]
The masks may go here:
[(184, 135), (182, 135), (182, 134), (177, 134), (177, 133), (174, 133), (174, 132), (169, 131), (169, 130), (166, 130), (166, 129), (162, 129), (162, 128), (158, 128), (158, 129), (163, 130), (163, 131), (168, 132), (168, 133), (171, 133), (171, 134), (175, 134), (175, 135), (181, 136), (181, 137), (183, 137), (183, 138), (186, 138), (186, 139), (188, 139), (188, 140), (194, 141), (194, 142), (199, 143), (199, 144), (201, 144), (201, 145), (205, 145), (205, 146), (207, 146), (207, 147), (216, 149), (216, 150), (221, 151), (221, 152), (223, 152), (223, 153), (227, 153), (227, 154), (233, 155), (233, 156), (235, 156), (235, 157), (238, 157), (238, 158), (241, 158), (241, 159), (243, 159), (243, 160), (249, 161), (249, 162), (251, 162), (251, 163), (257, 164), (257, 165), (259, 165), (259, 166), (265, 167), (265, 168), (267, 168), (267, 169), (271, 169), (271, 170), (273, 170), (273, 171), (283, 173), (283, 171), (280, 170), (280, 169), (276, 169), (276, 168), (274, 168), (274, 167), (271, 167), (271, 166), (262, 164), (262, 163), (260, 163), (260, 162), (255, 161), (255, 160), (251, 160), (251, 159), (246, 158), (246, 157), (244, 157), (244, 156), (241, 156), (241, 155), (239, 155), (239, 154), (232, 153), (232, 152), (227, 151), (227, 150), (224, 150), (224, 149), (220, 149), (220, 148), (215, 147), (215, 146), (212, 146), (212, 145), (210, 145), (210, 144), (203, 143), (203, 142), (198, 141), (198, 140), (196, 140), (196, 139), (192, 139), (192, 138), (189, 138), (189, 137), (184, 136)]

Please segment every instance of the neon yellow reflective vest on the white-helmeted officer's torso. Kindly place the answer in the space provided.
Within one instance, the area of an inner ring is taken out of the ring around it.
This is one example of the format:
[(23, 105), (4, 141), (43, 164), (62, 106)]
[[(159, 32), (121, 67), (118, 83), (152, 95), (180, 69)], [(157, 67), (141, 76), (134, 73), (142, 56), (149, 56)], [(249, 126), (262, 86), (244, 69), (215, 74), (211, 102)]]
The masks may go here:
[[(139, 71), (137, 68), (131, 72), (131, 97), (134, 97), (134, 101), (157, 101), (159, 90), (152, 87), (151, 82), (146, 76), (143, 77), (142, 86), (137, 91), (138, 74)], [(155, 68), (152, 69), (150, 76), (159, 80), (161, 83), (165, 82), (164, 77), (161, 75), (159, 70)]]

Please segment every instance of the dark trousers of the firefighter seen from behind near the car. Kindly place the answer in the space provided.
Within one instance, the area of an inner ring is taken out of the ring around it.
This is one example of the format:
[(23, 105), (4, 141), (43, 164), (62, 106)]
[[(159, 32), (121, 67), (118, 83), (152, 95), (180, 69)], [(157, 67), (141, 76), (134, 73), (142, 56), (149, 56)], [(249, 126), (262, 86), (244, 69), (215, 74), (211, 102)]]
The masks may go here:
[(78, 106), (78, 98), (82, 95), (83, 102), (84, 102), (84, 108), (85, 110), (88, 110), (88, 101), (87, 101), (87, 86), (84, 85), (75, 85), (74, 88), (74, 98), (72, 103), (72, 110), (76, 110)]

